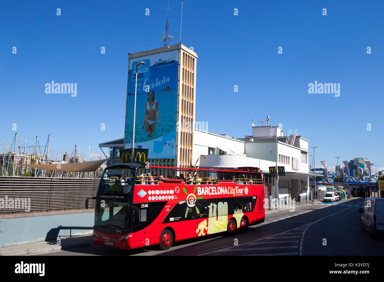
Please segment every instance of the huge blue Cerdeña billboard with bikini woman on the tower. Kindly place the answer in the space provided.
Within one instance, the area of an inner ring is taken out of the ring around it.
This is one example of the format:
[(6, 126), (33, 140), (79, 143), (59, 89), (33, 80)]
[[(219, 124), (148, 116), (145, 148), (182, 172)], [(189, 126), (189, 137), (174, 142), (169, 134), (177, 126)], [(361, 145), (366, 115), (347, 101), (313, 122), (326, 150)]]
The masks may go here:
[(136, 66), (137, 96), (134, 147), (148, 158), (175, 158), (179, 51), (129, 60), (125, 148), (131, 148)]

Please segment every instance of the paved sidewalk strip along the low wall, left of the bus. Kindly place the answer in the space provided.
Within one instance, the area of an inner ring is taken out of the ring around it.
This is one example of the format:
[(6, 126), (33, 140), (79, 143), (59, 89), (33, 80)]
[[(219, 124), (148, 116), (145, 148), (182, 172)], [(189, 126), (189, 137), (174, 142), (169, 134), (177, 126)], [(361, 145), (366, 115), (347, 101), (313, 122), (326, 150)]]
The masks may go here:
[(93, 235), (83, 235), (60, 239), (59, 246), (57, 240), (37, 242), (13, 247), (0, 248), (0, 256), (23, 256), (29, 254), (40, 254), (43, 252), (73, 249), (79, 247), (93, 246)]

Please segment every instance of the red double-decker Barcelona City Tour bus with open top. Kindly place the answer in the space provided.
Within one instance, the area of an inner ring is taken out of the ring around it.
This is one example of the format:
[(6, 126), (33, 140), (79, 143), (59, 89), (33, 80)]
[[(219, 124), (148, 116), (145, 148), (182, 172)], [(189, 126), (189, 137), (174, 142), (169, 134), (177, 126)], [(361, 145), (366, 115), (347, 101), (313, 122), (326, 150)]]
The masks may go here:
[[(162, 175), (160, 175), (162, 174)], [(93, 239), (134, 249), (262, 223), (264, 185), (258, 168), (174, 168), (121, 163), (107, 167), (95, 199)]]

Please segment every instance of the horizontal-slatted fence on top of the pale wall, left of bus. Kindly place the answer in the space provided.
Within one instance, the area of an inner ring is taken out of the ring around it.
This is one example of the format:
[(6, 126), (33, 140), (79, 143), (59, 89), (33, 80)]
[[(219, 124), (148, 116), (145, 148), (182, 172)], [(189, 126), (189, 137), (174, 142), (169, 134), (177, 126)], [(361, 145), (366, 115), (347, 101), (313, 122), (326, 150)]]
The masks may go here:
[(99, 179), (88, 178), (0, 176), (0, 214), (84, 209), (98, 184)]

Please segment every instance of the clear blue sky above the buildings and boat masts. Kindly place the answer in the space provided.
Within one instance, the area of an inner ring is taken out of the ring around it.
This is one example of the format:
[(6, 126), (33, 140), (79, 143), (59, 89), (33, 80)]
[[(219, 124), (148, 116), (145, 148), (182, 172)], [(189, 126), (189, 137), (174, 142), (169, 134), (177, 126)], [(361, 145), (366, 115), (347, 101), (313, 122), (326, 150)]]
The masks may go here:
[[(177, 44), (181, 0), (169, 6)], [(12, 142), (14, 123), (21, 145), (25, 137), (33, 145), (36, 134), (45, 145), (51, 134), (51, 158), (78, 143), (84, 157), (88, 145), (100, 155), (98, 143), (122, 138), (127, 53), (162, 47), (166, 7), (166, 0), (4, 2), (2, 149), (7, 138)], [(261, 125), (269, 115), (271, 125), (298, 129), (319, 146), (316, 166), (325, 160), (332, 167), (341, 156), (339, 164), (365, 157), (384, 167), (383, 8), (382, 1), (185, 0), (182, 43), (199, 56), (196, 121), (240, 138), (252, 133), (249, 119)], [(46, 94), (52, 80), (77, 83), (77, 96)], [(314, 81), (340, 83), (340, 96), (308, 94)]]

